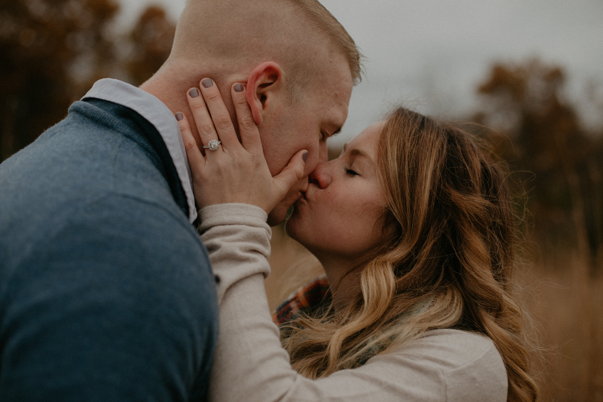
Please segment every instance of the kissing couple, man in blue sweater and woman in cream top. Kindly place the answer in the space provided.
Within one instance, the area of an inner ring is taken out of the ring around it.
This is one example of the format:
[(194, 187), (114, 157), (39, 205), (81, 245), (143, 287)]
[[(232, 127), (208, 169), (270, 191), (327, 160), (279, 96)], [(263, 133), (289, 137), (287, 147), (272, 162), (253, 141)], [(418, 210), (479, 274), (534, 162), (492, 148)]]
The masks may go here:
[[(189, 0), (0, 165), (2, 401), (537, 401), (504, 166), (403, 107), (316, 0)], [(42, 96), (42, 94), (40, 94)], [(271, 316), (271, 225), (325, 275)]]

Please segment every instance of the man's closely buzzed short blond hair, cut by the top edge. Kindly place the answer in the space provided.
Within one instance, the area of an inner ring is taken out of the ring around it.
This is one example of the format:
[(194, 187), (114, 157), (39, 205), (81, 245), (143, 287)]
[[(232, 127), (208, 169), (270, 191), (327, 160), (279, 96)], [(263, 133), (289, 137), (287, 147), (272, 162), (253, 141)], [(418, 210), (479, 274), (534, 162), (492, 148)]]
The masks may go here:
[(273, 60), (295, 99), (321, 74), (329, 55), (347, 61), (353, 83), (361, 80), (356, 43), (317, 0), (188, 0), (167, 63), (221, 65), (230, 74), (229, 69)]

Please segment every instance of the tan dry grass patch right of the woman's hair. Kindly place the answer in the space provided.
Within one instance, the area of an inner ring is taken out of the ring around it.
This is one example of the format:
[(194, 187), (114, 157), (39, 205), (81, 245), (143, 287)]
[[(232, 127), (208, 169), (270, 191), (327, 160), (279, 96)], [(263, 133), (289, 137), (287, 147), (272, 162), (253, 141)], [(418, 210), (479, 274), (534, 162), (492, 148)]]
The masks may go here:
[(603, 401), (603, 275), (571, 250), (535, 253), (517, 281), (543, 346), (544, 401)]

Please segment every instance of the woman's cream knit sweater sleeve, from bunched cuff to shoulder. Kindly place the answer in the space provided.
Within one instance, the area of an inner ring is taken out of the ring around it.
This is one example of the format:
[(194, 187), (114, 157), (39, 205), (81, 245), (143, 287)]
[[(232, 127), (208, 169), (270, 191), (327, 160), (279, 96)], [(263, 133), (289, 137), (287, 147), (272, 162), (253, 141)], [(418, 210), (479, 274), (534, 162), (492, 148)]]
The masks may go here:
[(201, 210), (201, 238), (219, 277), (219, 336), (209, 385), (212, 402), (505, 402), (507, 375), (494, 344), (459, 330), (429, 331), (365, 365), (309, 380), (281, 347), (264, 289), (270, 227), (258, 207)]

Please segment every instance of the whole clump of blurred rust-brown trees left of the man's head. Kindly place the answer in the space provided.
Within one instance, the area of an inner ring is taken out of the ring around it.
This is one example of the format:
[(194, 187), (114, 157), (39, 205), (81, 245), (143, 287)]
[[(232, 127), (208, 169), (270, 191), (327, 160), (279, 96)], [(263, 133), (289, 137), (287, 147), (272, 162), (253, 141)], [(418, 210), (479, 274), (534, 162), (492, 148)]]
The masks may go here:
[(0, 162), (65, 117), (99, 78), (139, 85), (168, 57), (175, 25), (148, 8), (116, 36), (115, 0), (0, 4)]

